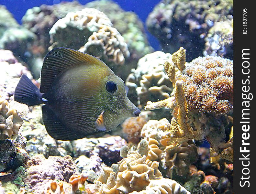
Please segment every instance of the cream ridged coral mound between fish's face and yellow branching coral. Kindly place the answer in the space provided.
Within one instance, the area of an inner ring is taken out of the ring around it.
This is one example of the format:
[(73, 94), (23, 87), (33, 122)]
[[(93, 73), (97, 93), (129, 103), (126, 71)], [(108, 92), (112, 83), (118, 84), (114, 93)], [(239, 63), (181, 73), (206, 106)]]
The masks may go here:
[(170, 97), (173, 87), (164, 72), (165, 60), (171, 61), (172, 55), (161, 51), (147, 54), (139, 59), (137, 68), (128, 75), (125, 84), (133, 93), (132, 102), (137, 103), (139, 108), (143, 108), (149, 100), (154, 102)]

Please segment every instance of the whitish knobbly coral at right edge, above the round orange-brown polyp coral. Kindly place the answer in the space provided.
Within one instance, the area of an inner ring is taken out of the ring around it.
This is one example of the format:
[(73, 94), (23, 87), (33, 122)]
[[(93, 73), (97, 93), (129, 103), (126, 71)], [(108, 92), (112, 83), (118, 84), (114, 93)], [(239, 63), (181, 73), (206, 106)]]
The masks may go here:
[(204, 56), (214, 55), (233, 59), (233, 19), (215, 22), (205, 38)]

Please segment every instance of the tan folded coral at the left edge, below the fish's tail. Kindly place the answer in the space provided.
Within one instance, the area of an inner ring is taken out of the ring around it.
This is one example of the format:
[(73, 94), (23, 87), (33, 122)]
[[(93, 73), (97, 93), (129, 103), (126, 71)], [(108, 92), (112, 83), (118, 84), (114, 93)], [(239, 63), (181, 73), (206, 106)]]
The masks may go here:
[(18, 135), (23, 120), (18, 115), (17, 110), (26, 114), (28, 113), (28, 106), (12, 101), (9, 103), (0, 96), (0, 140), (15, 138)]

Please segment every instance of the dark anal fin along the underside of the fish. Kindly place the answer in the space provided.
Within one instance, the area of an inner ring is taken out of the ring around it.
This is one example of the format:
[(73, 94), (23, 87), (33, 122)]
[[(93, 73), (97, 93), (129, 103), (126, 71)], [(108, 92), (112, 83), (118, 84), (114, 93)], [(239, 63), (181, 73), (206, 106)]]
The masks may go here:
[(42, 106), (43, 123), (48, 134), (57, 140), (76, 140), (83, 137), (68, 128), (47, 105)]

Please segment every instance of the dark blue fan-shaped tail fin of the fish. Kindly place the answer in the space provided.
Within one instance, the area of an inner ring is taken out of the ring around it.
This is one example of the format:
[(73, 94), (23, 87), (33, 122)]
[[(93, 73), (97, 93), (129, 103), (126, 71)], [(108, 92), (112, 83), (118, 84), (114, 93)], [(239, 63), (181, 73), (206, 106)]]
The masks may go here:
[(26, 76), (20, 77), (19, 83), (14, 91), (14, 100), (28, 106), (42, 104), (42, 93), (39, 88)]

